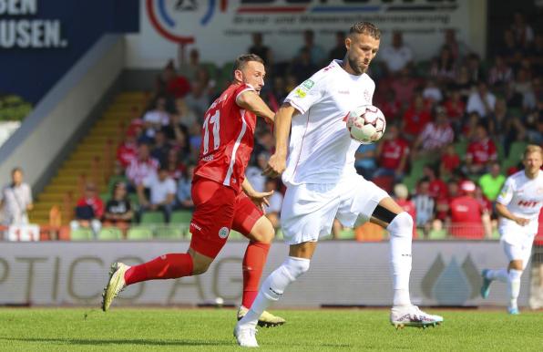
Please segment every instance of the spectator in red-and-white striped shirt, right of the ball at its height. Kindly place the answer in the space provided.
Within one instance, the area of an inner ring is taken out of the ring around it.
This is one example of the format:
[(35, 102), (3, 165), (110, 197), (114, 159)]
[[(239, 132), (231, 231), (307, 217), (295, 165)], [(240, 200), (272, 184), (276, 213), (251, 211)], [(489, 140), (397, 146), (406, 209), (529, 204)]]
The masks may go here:
[(435, 121), (426, 124), (413, 145), (412, 160), (418, 157), (434, 157), (443, 153), (455, 140), (455, 132), (442, 107), (435, 109)]

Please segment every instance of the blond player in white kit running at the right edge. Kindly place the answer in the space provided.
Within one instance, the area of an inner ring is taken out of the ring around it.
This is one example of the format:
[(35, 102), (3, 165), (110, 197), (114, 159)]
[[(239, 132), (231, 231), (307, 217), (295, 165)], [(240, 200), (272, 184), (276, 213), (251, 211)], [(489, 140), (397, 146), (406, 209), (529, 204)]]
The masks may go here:
[(496, 211), (500, 216), (498, 230), (509, 265), (497, 270), (483, 270), (481, 286), (481, 295), (487, 298), (493, 280), (507, 283), (507, 312), (512, 315), (518, 314), (520, 276), (528, 264), (532, 243), (538, 233), (538, 216), (543, 204), (541, 147), (528, 145), (522, 162), (524, 170), (507, 178), (496, 200)]

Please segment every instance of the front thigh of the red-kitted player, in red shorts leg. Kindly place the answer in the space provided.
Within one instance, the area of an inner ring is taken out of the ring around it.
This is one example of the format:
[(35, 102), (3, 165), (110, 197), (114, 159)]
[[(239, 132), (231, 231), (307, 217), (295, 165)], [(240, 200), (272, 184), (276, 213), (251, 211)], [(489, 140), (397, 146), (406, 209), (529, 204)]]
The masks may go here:
[(245, 193), (236, 197), (232, 230), (254, 242), (271, 243), (274, 235), (268, 218)]

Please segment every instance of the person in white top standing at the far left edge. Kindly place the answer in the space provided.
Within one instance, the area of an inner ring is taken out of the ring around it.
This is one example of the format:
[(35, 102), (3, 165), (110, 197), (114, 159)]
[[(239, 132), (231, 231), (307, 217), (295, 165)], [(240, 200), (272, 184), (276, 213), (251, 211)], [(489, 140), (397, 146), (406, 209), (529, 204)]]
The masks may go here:
[(27, 212), (34, 208), (34, 203), (30, 186), (23, 181), (21, 168), (11, 171), (11, 183), (4, 187), (0, 196), (0, 209), (4, 211), (2, 224), (27, 224)]

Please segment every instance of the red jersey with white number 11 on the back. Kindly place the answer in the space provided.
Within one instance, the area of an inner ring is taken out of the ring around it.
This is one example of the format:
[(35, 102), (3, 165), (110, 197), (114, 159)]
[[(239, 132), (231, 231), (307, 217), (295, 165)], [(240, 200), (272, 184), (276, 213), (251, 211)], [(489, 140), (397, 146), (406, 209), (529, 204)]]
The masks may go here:
[(200, 157), (194, 174), (240, 192), (254, 144), (256, 115), (241, 109), (236, 98), (247, 84), (232, 84), (204, 115)]

